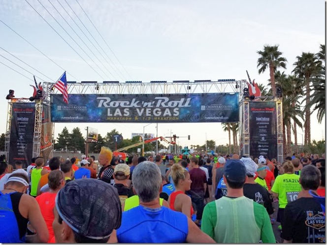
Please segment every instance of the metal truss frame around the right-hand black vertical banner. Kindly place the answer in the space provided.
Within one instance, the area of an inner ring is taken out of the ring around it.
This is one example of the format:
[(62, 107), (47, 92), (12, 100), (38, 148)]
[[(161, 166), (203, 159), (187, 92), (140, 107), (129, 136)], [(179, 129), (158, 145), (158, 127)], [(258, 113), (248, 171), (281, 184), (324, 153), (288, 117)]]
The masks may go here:
[[(277, 110), (277, 161), (283, 162), (283, 102), (277, 97), (256, 97), (256, 101), (276, 102)], [(240, 102), (240, 154), (250, 156), (250, 99), (242, 98)]]

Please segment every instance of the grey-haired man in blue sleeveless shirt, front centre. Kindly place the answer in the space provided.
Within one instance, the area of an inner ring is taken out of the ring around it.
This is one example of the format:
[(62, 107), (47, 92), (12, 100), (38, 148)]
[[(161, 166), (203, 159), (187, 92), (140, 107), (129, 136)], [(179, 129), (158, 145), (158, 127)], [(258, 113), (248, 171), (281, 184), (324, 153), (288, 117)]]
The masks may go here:
[(132, 176), (133, 189), (140, 205), (123, 212), (122, 225), (117, 230), (118, 243), (214, 243), (183, 213), (162, 207), (160, 168), (156, 163), (139, 163)]

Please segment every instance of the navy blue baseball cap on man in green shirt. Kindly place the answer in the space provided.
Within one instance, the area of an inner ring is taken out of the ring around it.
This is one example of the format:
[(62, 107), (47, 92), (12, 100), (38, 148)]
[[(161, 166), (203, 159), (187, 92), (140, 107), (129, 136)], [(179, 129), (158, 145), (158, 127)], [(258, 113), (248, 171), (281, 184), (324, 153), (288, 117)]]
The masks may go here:
[(245, 181), (246, 167), (242, 161), (230, 159), (225, 163), (224, 175), (228, 180)]

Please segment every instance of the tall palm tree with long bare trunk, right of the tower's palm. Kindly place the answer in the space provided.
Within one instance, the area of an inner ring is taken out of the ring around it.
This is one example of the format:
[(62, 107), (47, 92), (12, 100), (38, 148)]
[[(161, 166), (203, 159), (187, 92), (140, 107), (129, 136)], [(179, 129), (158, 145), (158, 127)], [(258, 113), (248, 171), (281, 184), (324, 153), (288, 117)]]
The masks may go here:
[(296, 56), (296, 61), (294, 62), (294, 75), (303, 81), (304, 91), (305, 91), (305, 121), (304, 121), (304, 144), (311, 142), (311, 121), (310, 121), (310, 107), (307, 106), (310, 102), (310, 78), (313, 74), (317, 72), (318, 64), (317, 56), (313, 53), (302, 52), (301, 56)]

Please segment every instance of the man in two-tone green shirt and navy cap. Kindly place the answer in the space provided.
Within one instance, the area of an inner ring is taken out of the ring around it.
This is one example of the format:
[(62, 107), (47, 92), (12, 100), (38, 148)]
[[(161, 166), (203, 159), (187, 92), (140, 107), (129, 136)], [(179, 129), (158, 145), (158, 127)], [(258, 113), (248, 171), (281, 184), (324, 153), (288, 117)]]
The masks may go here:
[(276, 243), (266, 209), (243, 195), (244, 163), (227, 161), (223, 178), (227, 196), (204, 207), (201, 230), (217, 243)]

